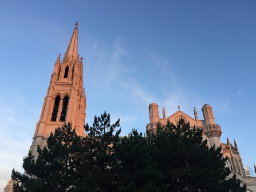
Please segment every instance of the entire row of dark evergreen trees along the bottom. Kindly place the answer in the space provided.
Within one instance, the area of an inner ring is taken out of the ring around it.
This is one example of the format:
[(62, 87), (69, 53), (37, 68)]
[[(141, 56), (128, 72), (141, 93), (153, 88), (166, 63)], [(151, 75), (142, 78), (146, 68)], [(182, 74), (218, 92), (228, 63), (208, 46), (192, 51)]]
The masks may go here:
[(208, 147), (202, 130), (158, 124), (157, 134), (132, 130), (120, 138), (106, 112), (85, 125), (80, 138), (70, 123), (51, 133), (47, 146), (24, 157), (25, 174), (13, 169), (14, 192), (245, 192), (225, 167), (220, 147)]

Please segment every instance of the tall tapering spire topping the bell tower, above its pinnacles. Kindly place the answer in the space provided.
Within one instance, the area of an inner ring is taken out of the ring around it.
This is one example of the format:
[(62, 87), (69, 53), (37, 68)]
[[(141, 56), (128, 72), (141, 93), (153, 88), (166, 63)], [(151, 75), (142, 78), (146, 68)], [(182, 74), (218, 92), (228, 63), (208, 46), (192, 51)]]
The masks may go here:
[(70, 59), (70, 61), (75, 60), (78, 55), (78, 22), (74, 28), (72, 37), (69, 41), (68, 49), (66, 50), (65, 56), (63, 60)]

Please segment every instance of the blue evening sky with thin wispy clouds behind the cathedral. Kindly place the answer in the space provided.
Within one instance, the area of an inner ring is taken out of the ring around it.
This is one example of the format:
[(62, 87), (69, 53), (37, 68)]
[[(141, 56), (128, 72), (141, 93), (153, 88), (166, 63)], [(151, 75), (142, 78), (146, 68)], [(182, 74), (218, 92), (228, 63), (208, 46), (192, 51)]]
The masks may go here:
[(221, 141), (256, 164), (255, 1), (2, 1), (0, 190), (32, 143), (53, 65), (76, 21), (86, 122), (105, 110), (121, 135), (145, 132), (149, 103), (199, 119), (213, 108)]

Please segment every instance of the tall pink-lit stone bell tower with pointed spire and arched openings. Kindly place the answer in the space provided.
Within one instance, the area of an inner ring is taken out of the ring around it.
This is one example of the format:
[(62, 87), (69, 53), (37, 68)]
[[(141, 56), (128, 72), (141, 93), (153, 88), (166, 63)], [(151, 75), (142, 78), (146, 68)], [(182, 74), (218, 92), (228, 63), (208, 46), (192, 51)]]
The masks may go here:
[(85, 89), (83, 87), (83, 58), (78, 55), (78, 23), (61, 62), (59, 54), (50, 78), (50, 85), (36, 124), (30, 151), (37, 158), (37, 146), (44, 147), (50, 132), (65, 123), (72, 123), (77, 135), (84, 136)]

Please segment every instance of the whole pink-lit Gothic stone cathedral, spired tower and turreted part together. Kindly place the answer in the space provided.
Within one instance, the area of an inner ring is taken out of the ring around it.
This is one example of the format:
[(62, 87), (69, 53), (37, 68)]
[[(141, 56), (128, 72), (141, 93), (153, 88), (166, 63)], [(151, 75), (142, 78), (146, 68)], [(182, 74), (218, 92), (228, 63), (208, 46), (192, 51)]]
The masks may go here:
[[(86, 97), (83, 87), (83, 58), (78, 54), (78, 23), (76, 23), (68, 48), (61, 62), (61, 56), (57, 57), (54, 64), (53, 73), (50, 77), (49, 87), (42, 105), (42, 111), (38, 123), (36, 124), (30, 151), (37, 158), (37, 146), (46, 146), (46, 140), (56, 127), (65, 123), (72, 123), (76, 128), (77, 135), (84, 137), (84, 124), (86, 117)], [(246, 184), (247, 192), (256, 192), (256, 177), (247, 177), (243, 168), (243, 162), (234, 140), (233, 144), (220, 142), (222, 134), (221, 127), (215, 123), (212, 107), (204, 105), (202, 107), (203, 120), (199, 120), (196, 109), (195, 117), (192, 118), (180, 111), (166, 117), (163, 107), (163, 118), (159, 118), (157, 103), (149, 105), (150, 123), (146, 126), (147, 134), (155, 134), (157, 123), (166, 124), (170, 121), (176, 124), (180, 118), (190, 122), (192, 127), (196, 126), (203, 130), (203, 139), (207, 139), (208, 146), (222, 146), (224, 156), (228, 156), (227, 167), (232, 171), (230, 177), (236, 174), (242, 183)], [(12, 192), (12, 179), (8, 181), (4, 192)]]

